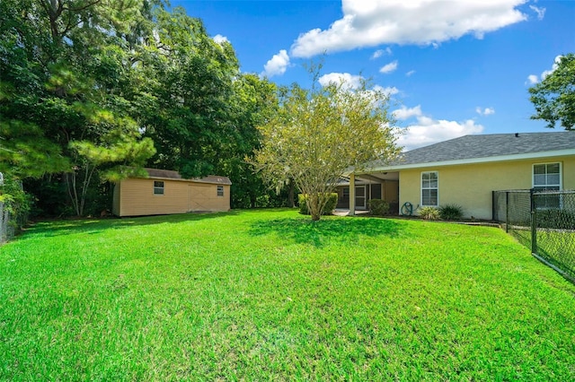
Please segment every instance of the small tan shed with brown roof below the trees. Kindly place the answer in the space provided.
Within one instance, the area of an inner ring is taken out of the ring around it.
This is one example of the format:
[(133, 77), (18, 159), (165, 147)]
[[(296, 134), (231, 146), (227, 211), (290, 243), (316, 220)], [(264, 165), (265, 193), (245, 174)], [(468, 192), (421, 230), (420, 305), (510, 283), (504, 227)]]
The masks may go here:
[(181, 178), (168, 169), (146, 169), (148, 178), (126, 178), (114, 186), (112, 213), (116, 216), (230, 210), (227, 177)]

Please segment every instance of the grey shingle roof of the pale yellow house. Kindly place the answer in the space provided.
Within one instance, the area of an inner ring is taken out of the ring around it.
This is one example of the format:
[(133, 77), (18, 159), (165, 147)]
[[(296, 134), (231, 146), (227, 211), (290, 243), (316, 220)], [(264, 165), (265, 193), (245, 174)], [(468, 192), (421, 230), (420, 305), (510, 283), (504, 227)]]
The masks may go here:
[(390, 164), (463, 161), (570, 149), (575, 150), (575, 132), (464, 135), (403, 152)]

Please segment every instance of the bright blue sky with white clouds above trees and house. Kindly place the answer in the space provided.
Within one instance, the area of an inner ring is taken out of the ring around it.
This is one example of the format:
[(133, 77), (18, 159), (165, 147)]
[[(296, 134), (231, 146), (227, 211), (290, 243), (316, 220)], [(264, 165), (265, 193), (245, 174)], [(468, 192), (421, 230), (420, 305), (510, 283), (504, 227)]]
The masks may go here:
[[(310, 85), (371, 78), (407, 149), (467, 134), (553, 131), (527, 89), (575, 52), (575, 0), (172, 0), (234, 46), (241, 70)], [(325, 53), (325, 55), (323, 55)]]

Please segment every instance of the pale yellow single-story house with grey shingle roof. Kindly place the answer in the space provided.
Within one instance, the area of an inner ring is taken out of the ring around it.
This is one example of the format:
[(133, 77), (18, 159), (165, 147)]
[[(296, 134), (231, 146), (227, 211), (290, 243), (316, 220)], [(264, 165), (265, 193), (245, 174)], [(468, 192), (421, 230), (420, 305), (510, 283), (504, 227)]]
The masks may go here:
[(369, 199), (392, 204), (397, 195), (400, 213), (406, 203), (413, 213), (458, 204), (465, 217), (491, 220), (493, 191), (575, 189), (575, 132), (465, 135), (346, 175), (349, 185), (338, 192), (340, 207), (351, 214), (365, 209)]

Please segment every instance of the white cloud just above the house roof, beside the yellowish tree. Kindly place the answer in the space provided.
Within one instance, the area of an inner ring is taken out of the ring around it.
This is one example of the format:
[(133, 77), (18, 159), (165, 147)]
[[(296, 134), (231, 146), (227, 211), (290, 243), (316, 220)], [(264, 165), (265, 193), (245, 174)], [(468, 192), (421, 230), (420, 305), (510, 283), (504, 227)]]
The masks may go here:
[(415, 108), (403, 106), (401, 109), (394, 110), (393, 114), (400, 120), (415, 117), (414, 123), (403, 130), (404, 134), (397, 141), (407, 151), (463, 135), (481, 134), (483, 131), (483, 126), (476, 125), (473, 119), (457, 122), (425, 116), (420, 105)]

